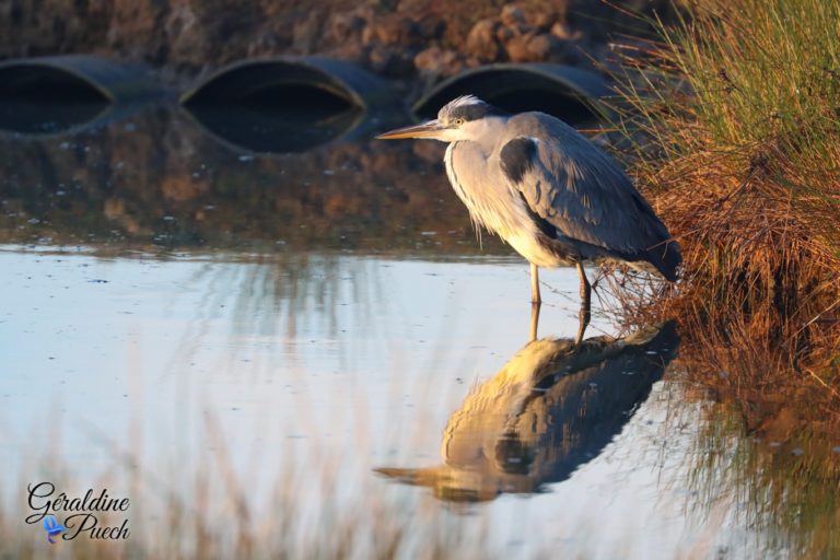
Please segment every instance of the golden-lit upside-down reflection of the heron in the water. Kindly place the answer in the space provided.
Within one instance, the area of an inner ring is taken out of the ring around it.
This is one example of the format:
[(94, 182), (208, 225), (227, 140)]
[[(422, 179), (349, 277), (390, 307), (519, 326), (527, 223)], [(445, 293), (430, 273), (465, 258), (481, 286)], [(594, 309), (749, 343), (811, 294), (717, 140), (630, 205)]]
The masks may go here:
[(450, 501), (544, 491), (621, 431), (678, 345), (673, 323), (623, 339), (533, 340), (450, 418), (443, 465), (376, 470)]

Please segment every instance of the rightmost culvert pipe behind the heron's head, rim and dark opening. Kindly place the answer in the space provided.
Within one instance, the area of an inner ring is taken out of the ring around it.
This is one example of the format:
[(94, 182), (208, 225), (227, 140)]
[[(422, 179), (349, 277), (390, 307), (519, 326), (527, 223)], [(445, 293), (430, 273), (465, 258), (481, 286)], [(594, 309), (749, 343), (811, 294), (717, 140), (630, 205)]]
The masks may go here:
[(500, 63), (472, 68), (441, 82), (413, 106), (431, 118), (459, 95), (476, 95), (510, 113), (541, 110), (570, 125), (597, 120), (600, 97), (612, 94), (600, 75), (563, 65)]

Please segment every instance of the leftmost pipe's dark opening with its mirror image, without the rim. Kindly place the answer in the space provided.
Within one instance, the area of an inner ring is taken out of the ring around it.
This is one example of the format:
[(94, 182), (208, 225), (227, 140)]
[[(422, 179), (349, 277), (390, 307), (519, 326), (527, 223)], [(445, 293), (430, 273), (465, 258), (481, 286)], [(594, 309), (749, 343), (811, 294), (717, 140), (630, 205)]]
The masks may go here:
[(110, 100), (83, 79), (56, 68), (14, 66), (0, 70), (0, 129), (57, 133), (95, 119)]

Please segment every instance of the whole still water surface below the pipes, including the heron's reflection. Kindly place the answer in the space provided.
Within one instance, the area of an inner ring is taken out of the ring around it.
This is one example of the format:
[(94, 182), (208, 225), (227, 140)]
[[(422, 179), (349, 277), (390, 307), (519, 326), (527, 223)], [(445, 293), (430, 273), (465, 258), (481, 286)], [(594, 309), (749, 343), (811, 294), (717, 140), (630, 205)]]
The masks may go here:
[(840, 549), (828, 415), (698, 381), (673, 324), (575, 347), (571, 269), (528, 342), (527, 266), (442, 147), (257, 153), (165, 107), (49, 132), (0, 138), (4, 555), (50, 552), (40, 480), (130, 498), (114, 555)]

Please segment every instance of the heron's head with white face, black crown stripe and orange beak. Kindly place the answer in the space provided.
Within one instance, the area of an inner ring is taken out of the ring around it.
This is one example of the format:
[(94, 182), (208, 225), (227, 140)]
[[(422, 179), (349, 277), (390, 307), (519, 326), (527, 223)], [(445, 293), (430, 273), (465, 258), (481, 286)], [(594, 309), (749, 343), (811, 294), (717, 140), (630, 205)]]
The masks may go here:
[(457, 97), (438, 112), (438, 118), (420, 125), (398, 128), (377, 136), (380, 140), (431, 138), (442, 142), (479, 140), (488, 135), (488, 126), (508, 114), (474, 95)]

